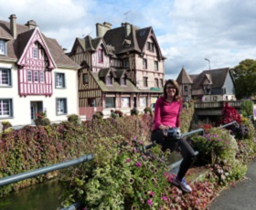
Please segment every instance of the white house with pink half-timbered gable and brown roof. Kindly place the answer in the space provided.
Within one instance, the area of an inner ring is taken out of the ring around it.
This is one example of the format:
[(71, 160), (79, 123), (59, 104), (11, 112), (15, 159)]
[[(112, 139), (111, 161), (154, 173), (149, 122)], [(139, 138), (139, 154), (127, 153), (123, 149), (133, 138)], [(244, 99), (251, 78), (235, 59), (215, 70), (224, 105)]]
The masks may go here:
[(55, 39), (44, 36), (33, 20), (25, 26), (0, 20), (0, 121), (34, 123), (36, 113), (50, 121), (78, 114), (77, 72)]

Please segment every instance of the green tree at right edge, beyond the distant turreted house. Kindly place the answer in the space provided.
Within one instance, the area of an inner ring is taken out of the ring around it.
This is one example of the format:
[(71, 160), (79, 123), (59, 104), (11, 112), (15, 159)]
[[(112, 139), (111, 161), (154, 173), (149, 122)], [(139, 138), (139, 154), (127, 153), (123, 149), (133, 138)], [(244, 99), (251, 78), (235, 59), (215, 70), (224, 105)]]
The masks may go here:
[(248, 99), (256, 95), (256, 60), (242, 60), (231, 72), (236, 85), (237, 99)]

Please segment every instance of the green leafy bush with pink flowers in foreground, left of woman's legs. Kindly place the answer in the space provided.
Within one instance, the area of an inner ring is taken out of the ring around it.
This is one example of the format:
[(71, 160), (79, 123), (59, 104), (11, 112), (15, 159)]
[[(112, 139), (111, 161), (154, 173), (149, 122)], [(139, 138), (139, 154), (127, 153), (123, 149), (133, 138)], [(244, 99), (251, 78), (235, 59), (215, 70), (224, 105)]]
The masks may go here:
[(143, 146), (143, 142), (125, 141), (121, 136), (98, 140), (91, 151), (95, 161), (90, 167), (78, 166), (73, 179), (69, 178), (73, 172), (63, 177), (63, 184), (72, 194), (63, 194), (62, 204), (72, 204), (70, 195), (77, 194), (76, 201), (88, 209), (149, 209), (163, 205), (168, 185), (163, 176), (165, 163), (154, 155), (144, 155)]

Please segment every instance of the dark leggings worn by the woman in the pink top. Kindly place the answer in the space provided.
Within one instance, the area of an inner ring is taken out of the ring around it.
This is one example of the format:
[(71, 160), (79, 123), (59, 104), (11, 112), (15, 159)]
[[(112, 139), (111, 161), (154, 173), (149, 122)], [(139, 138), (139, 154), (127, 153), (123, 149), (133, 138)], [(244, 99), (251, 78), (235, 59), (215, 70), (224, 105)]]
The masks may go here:
[(195, 158), (195, 152), (187, 142), (187, 138), (176, 140), (174, 138), (165, 137), (162, 130), (155, 130), (152, 132), (151, 141), (162, 144), (163, 152), (169, 149), (171, 152), (176, 150), (181, 153), (183, 161), (180, 164), (179, 171), (177, 173), (177, 177), (181, 180), (187, 173), (187, 170), (190, 168)]

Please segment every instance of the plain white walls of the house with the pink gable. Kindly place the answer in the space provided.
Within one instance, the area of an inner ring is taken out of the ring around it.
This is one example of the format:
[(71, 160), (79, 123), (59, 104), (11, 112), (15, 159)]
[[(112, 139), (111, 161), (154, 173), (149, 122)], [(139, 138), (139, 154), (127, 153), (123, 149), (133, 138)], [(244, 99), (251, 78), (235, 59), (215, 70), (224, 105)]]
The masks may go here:
[[(9, 121), (13, 126), (33, 124), (31, 120), (31, 106), (37, 103), (42, 105), (42, 111), (46, 111), (47, 117), (51, 122), (67, 121), (67, 115), (78, 114), (78, 84), (77, 84), (77, 70), (56, 68), (52, 70), (53, 79), (53, 94), (49, 97), (45, 95), (27, 95), (20, 97), (18, 94), (18, 78), (17, 68), (14, 63), (0, 62), (0, 68), (11, 68), (11, 87), (0, 86), (0, 100), (12, 100), (12, 116), (1, 117), (0, 122)], [(66, 88), (56, 88), (55, 73), (64, 73), (66, 79)], [(66, 99), (67, 113), (57, 113), (57, 99)], [(35, 112), (38, 112), (36, 107)], [(35, 114), (35, 113), (34, 113)]]

